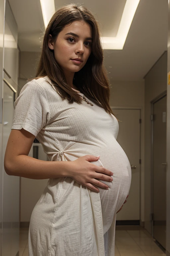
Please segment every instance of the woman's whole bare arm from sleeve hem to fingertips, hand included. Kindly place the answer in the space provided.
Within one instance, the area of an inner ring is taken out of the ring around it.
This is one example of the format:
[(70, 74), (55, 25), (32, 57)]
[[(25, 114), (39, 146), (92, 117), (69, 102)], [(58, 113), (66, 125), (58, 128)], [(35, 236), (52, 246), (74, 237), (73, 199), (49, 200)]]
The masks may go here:
[(95, 192), (99, 190), (94, 185), (108, 188), (97, 179), (112, 182), (110, 176), (113, 173), (110, 170), (91, 163), (99, 159), (93, 155), (85, 155), (74, 161), (42, 161), (28, 156), (34, 139), (35, 136), (23, 128), (11, 130), (4, 157), (4, 168), (8, 175), (29, 179), (71, 177)]

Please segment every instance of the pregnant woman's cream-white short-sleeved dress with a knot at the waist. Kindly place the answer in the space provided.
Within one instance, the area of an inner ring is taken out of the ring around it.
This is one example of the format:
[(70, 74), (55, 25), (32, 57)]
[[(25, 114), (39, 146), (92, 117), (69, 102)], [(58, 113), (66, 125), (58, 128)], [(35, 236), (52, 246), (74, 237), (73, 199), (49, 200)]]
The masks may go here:
[[(82, 93), (80, 93), (83, 95)], [(48, 76), (32, 80), (15, 101), (12, 129), (34, 134), (49, 161), (99, 156), (93, 164), (114, 173), (98, 192), (70, 177), (49, 179), (29, 227), (29, 256), (114, 256), (116, 212), (128, 195), (131, 167), (117, 142), (119, 124), (91, 97), (63, 100)]]

